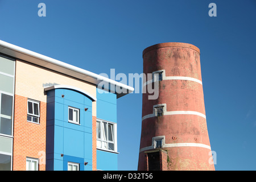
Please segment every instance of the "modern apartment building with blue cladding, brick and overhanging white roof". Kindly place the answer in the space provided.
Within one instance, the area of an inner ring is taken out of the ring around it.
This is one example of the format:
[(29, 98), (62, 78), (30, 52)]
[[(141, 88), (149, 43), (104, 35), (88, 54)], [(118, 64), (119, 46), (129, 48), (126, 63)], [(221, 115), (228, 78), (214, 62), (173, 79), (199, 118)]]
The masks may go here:
[(133, 88), (2, 40), (0, 82), (0, 170), (117, 170), (117, 99)]

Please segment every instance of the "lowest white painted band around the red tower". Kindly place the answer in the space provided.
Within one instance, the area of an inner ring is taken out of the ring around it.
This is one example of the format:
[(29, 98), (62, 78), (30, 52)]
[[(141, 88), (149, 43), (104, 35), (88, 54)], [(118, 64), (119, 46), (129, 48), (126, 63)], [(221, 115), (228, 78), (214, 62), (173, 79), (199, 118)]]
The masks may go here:
[[(162, 146), (163, 148), (165, 147), (203, 147), (203, 148), (207, 148), (209, 150), (211, 150), (210, 146), (208, 146), (207, 144), (203, 144), (203, 143), (166, 143), (163, 144)], [(151, 150), (154, 149), (154, 146), (147, 146), (147, 147), (143, 147), (139, 150), (139, 152), (143, 152), (145, 150)]]

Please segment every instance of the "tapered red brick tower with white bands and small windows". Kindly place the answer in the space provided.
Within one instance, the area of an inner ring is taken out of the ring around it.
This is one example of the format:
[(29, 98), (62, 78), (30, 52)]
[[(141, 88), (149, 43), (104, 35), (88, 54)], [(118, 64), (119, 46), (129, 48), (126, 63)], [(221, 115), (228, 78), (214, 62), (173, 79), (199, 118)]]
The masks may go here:
[[(161, 43), (143, 51), (138, 170), (214, 170), (205, 117), (199, 48)], [(152, 78), (152, 79), (151, 79)], [(148, 88), (159, 86), (157, 98)]]

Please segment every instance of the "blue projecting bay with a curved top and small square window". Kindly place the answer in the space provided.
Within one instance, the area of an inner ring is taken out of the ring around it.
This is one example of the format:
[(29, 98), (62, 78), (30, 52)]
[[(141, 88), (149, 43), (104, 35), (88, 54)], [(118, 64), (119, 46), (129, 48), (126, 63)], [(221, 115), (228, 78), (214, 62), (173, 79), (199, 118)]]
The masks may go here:
[[(80, 125), (68, 122), (68, 106), (80, 109)], [(75, 90), (49, 90), (46, 133), (47, 170), (67, 170), (68, 162), (92, 170), (92, 100)]]

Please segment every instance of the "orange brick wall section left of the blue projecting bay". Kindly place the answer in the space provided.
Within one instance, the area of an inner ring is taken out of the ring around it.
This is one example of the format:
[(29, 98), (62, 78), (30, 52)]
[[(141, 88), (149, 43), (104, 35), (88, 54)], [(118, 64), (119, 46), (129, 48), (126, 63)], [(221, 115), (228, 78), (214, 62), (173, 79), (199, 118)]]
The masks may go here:
[(27, 122), (27, 98), (14, 98), (13, 170), (26, 170), (26, 157), (39, 159), (46, 170), (46, 103), (40, 102), (40, 124)]

